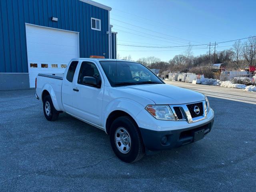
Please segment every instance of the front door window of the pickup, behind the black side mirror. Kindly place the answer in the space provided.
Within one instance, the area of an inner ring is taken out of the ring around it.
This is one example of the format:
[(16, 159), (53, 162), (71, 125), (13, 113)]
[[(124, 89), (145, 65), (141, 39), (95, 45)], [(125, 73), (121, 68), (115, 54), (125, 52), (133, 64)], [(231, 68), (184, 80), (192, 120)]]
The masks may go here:
[(82, 62), (77, 83), (81, 85), (87, 85), (83, 83), (84, 77), (94, 77), (96, 79), (97, 84), (99, 86), (101, 84), (100, 73), (95, 64), (91, 62)]

